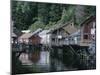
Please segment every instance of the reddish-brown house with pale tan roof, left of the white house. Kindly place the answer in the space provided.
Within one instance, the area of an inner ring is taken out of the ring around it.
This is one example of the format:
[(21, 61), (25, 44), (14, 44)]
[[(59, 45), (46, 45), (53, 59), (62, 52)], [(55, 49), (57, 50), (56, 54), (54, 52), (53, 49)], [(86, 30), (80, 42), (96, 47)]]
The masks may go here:
[(39, 32), (41, 32), (41, 29), (37, 29), (32, 33), (25, 33), (19, 37), (19, 42), (25, 44), (38, 45), (40, 44), (41, 40), (41, 38), (38, 36)]

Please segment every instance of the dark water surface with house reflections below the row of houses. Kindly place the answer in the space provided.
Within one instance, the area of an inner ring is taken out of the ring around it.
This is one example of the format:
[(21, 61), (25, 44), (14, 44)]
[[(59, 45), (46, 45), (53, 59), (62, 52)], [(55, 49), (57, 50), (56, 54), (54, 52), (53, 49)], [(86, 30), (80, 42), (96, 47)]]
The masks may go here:
[[(78, 47), (75, 49), (75, 52), (80, 51)], [(86, 57), (87, 53), (84, 53), (85, 50), (83, 50), (83, 52), (81, 50), (80, 53), (85, 54)], [(13, 53), (13, 56), (16, 57), (16, 53)], [(13, 58), (18, 58), (18, 60), (13, 61), (13, 67), (16, 67), (17, 70), (15, 69), (15, 71), (17, 71), (16, 73), (18, 74), (89, 69), (85, 64), (90, 63), (87, 63), (87, 57), (83, 60), (83, 56), (84, 55), (76, 55), (70, 47), (66, 46), (52, 48), (42, 46), (35, 48), (31, 46), (31, 48), (26, 48), (26, 51), (24, 49), (19, 57)], [(21, 63), (17, 63), (19, 61)], [(16, 64), (18, 66), (16, 66)], [(93, 68), (95, 68), (95, 64)]]

